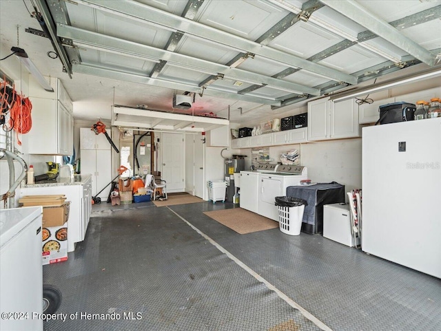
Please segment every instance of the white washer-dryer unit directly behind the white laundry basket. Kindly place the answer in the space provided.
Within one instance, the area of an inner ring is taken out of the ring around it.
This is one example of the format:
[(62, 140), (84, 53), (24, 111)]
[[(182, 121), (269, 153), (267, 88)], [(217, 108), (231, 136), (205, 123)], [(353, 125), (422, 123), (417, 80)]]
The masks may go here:
[(258, 214), (278, 222), (276, 197), (287, 194), (287, 187), (300, 184), (308, 177), (307, 167), (278, 165), (274, 172), (259, 175)]

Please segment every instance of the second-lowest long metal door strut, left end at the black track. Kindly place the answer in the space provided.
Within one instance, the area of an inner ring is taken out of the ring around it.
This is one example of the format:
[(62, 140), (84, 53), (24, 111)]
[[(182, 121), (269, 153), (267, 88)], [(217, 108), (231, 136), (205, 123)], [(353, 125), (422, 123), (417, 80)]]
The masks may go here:
[(95, 50), (114, 52), (116, 54), (143, 58), (150, 61), (152, 58), (165, 59), (168, 63), (176, 65), (177, 67), (184, 67), (190, 70), (198, 70), (205, 73), (216, 72), (223, 74), (225, 78), (230, 78), (234, 81), (266, 84), (269, 87), (280, 89), (286, 92), (296, 92), (300, 94), (307, 93), (314, 96), (320, 95), (320, 90), (297, 83), (282, 81), (280, 79), (262, 74), (227, 67), (226, 65), (201, 60), (200, 58), (169, 52), (156, 47), (141, 45), (139, 43), (118, 39), (112, 36), (106, 36), (105, 34), (73, 28), (68, 25), (57, 25), (57, 34), (63, 38), (72, 39), (74, 43), (81, 45), (82, 47), (91, 47)]

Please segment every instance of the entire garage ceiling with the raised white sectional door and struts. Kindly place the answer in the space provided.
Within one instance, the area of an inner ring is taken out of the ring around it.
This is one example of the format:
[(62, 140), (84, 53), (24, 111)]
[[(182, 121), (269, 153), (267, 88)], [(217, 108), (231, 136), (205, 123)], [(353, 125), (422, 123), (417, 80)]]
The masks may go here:
[[(26, 11), (32, 3), (50, 38), (24, 32), (44, 30)], [(24, 0), (0, 9), (2, 54), (17, 45), (19, 24), (20, 47), (61, 78), (76, 118), (110, 119), (118, 103), (256, 122), (438, 66), (441, 52), (441, 1)], [(50, 39), (61, 61), (46, 56)], [(191, 95), (192, 108), (174, 109), (174, 94)]]

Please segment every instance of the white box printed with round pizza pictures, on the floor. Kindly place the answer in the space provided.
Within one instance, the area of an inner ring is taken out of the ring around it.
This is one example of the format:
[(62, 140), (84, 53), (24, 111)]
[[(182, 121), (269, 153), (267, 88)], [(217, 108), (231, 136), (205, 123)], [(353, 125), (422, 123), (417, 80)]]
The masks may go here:
[(42, 262), (53, 264), (68, 259), (68, 224), (61, 226), (43, 226), (42, 239)]

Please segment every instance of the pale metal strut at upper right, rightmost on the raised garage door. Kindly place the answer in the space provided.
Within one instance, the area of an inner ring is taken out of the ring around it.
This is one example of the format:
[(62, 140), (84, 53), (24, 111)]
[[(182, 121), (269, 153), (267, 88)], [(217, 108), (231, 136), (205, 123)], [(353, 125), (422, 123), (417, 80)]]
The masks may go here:
[(389, 23), (383, 21), (375, 14), (369, 12), (365, 7), (361, 6), (355, 1), (342, 1), (342, 0), (320, 0), (325, 3), (326, 6), (332, 8), (345, 15), (352, 21), (364, 26), (371, 32), (382, 37), (386, 41), (389, 41), (392, 45), (396, 45), (402, 50), (408, 52), (412, 56), (418, 58), (418, 60), (433, 66), (435, 64), (435, 56), (431, 54), (424, 47), (421, 47), (415, 41), (407, 38), (393, 28)]

